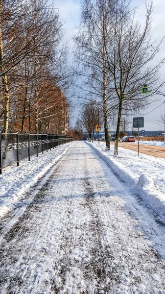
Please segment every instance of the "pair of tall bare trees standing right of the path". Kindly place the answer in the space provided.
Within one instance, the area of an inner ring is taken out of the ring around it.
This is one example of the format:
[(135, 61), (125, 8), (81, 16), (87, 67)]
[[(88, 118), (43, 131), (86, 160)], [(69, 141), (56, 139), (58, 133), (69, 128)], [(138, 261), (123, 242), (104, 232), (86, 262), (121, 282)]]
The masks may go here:
[[(155, 61), (164, 37), (159, 43), (151, 42), (152, 3), (146, 4), (145, 9), (145, 23), (141, 25), (129, 0), (83, 0), (81, 23), (74, 38), (75, 74), (79, 77), (79, 97), (84, 99), (84, 127), (90, 132), (90, 108), (95, 113), (100, 109), (109, 149), (108, 122), (115, 118), (115, 154), (126, 117), (149, 105), (164, 84), (159, 70), (165, 58)], [(142, 94), (144, 84), (150, 87), (148, 94)]]

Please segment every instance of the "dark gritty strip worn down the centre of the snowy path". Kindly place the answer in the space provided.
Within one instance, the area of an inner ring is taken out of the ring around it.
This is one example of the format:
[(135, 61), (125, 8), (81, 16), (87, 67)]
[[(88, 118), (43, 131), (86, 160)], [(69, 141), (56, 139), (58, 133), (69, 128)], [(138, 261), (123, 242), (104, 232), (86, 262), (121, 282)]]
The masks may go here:
[[(86, 162), (88, 159), (86, 160)], [(89, 170), (88, 165), (86, 165), (86, 175), (88, 176)], [(114, 260), (114, 254), (109, 246), (103, 244), (104, 228), (103, 223), (99, 217), (99, 212), (95, 202), (94, 189), (89, 180), (84, 180), (84, 187), (87, 193), (85, 206), (89, 208), (92, 220), (89, 223), (89, 228), (87, 231), (93, 232), (92, 240), (93, 246), (90, 250), (91, 259), (90, 262), (84, 265), (84, 275), (87, 279), (87, 284), (90, 280), (95, 279), (96, 283), (96, 293), (109, 293), (112, 288), (112, 272), (110, 267), (108, 267), (108, 261)], [(115, 273), (113, 269), (113, 274)], [(109, 276), (109, 280), (107, 279)], [(116, 282), (119, 278), (116, 278)], [(91, 289), (90, 292), (91, 293)], [(95, 293), (95, 292), (94, 292)]]

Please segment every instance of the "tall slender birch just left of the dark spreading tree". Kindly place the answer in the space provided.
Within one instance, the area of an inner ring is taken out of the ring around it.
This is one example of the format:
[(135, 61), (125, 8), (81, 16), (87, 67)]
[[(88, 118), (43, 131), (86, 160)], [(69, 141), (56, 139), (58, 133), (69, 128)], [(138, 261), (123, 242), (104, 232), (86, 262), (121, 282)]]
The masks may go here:
[(85, 99), (102, 108), (106, 149), (110, 148), (108, 117), (115, 107), (110, 99), (114, 89), (112, 76), (106, 64), (106, 52), (111, 24), (111, 1), (84, 0), (82, 4), (82, 23), (77, 28), (75, 56), (78, 63), (76, 73), (83, 77), (79, 86), (85, 90)]

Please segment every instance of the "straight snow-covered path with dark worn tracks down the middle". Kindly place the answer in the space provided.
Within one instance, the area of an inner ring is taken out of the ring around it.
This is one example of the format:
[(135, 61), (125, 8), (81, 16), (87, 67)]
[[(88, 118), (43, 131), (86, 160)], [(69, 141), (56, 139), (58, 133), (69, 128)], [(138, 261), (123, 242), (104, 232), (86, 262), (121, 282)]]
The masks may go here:
[(94, 149), (76, 142), (40, 187), (2, 225), (0, 294), (165, 294), (165, 226)]

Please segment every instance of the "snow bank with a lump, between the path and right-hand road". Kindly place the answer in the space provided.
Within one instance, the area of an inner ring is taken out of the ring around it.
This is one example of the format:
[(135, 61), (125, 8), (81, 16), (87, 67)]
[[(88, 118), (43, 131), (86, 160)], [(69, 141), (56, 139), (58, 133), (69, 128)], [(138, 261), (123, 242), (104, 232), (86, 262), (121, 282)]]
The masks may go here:
[(91, 145), (101, 152), (113, 171), (165, 222), (165, 159), (141, 153), (138, 156), (137, 152), (122, 147), (118, 148), (118, 155), (114, 155), (112, 145), (109, 151), (105, 151), (103, 142)]

